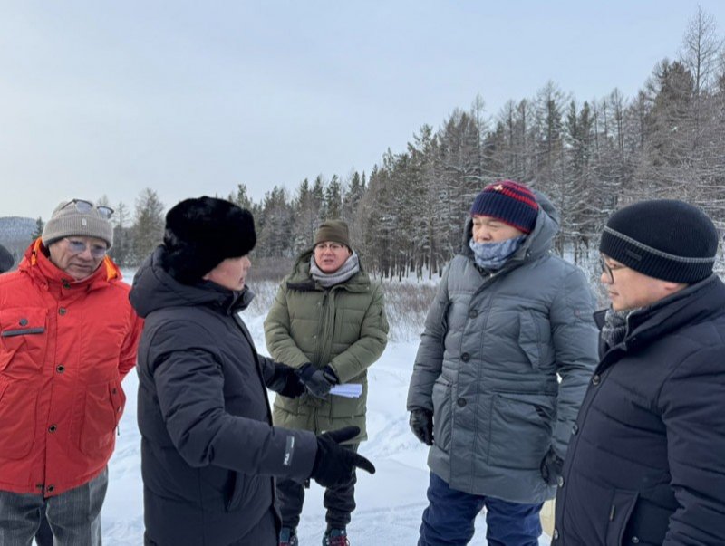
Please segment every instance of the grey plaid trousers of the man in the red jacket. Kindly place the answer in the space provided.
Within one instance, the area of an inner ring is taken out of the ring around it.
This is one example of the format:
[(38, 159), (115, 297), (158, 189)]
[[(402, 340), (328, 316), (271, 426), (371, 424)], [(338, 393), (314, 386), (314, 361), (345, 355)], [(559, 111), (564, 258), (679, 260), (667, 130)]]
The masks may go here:
[(104, 468), (87, 484), (47, 499), (42, 494), (0, 491), (0, 544), (28, 546), (45, 512), (55, 546), (99, 546), (107, 486)]

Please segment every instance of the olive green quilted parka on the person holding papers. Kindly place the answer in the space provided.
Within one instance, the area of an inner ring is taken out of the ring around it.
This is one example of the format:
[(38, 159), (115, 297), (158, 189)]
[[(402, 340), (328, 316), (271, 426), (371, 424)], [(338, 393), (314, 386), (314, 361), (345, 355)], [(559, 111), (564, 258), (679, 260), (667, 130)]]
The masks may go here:
[(320, 434), (343, 426), (359, 426), (351, 443), (367, 438), (367, 369), (380, 358), (388, 341), (382, 286), (361, 269), (344, 283), (325, 289), (310, 274), (312, 250), (297, 258), (283, 279), (265, 320), (266, 347), (273, 359), (299, 368), (326, 365), (341, 383), (361, 383), (360, 398), (328, 395), (277, 395), (275, 426), (302, 428)]

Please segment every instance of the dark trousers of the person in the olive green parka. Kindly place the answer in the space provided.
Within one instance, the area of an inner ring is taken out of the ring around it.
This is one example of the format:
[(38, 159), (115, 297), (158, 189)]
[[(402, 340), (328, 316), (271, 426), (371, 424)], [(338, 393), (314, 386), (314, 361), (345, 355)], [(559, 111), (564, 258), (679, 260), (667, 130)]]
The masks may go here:
[[(358, 445), (349, 444), (343, 447), (357, 451)], [(353, 471), (350, 480), (344, 484), (324, 490), (323, 505), (327, 509), (324, 520), (330, 529), (344, 529), (350, 523), (350, 516), (355, 509), (356, 482), (357, 476)], [(282, 514), (283, 527), (294, 529), (299, 525), (303, 504), (303, 484), (292, 480), (277, 480), (277, 508)]]

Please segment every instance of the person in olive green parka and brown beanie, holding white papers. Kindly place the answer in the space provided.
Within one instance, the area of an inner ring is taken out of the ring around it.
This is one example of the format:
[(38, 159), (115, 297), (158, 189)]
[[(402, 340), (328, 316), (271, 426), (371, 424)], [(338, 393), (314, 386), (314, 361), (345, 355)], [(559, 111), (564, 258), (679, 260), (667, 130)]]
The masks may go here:
[[(362, 271), (344, 222), (330, 220), (319, 226), (312, 249), (297, 259), (279, 287), (266, 317), (265, 337), (271, 356), (298, 368), (308, 391), (300, 398), (277, 395), (275, 426), (317, 433), (359, 426), (360, 436), (347, 445), (357, 450), (367, 438), (367, 369), (385, 349), (388, 321), (382, 287)], [(361, 385), (360, 397), (330, 394), (333, 386), (343, 383)], [(325, 490), (323, 544), (347, 543), (355, 481), (353, 473), (349, 483)], [(304, 486), (279, 480), (277, 498), (283, 522), (280, 545), (294, 546)]]

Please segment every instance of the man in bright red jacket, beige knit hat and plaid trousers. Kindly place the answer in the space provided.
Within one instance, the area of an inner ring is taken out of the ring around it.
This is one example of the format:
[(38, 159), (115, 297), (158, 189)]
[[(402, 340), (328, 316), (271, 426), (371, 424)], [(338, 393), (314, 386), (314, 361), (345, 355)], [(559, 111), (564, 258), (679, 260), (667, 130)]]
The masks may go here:
[(63, 201), (0, 277), (0, 544), (43, 514), (59, 545), (101, 544), (107, 463), (142, 321), (108, 257), (112, 209)]

